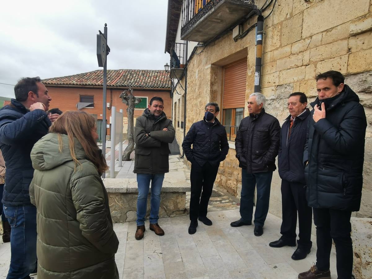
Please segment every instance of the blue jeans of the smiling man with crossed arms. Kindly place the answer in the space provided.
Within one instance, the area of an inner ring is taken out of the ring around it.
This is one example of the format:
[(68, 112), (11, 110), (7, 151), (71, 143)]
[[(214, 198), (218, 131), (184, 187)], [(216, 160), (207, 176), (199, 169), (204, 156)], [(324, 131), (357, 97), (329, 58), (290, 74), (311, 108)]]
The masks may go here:
[(138, 198), (137, 198), (137, 225), (145, 224), (147, 211), (147, 196), (151, 180), (151, 210), (150, 224), (156, 224), (159, 219), (160, 192), (163, 186), (164, 173), (149, 174), (137, 173)]

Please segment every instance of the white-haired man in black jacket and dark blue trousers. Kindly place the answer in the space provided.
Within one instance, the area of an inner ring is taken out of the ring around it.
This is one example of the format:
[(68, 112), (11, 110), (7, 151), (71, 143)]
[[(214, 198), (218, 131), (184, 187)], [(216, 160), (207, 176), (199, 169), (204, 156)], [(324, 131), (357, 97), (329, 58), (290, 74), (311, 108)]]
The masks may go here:
[(265, 96), (253, 93), (248, 99), (249, 116), (242, 119), (235, 138), (236, 157), (241, 167), (241, 219), (232, 227), (252, 224), (254, 188), (257, 184), (254, 235), (263, 234), (269, 211), (270, 187), (275, 157), (278, 155), (280, 125), (278, 119), (265, 112)]

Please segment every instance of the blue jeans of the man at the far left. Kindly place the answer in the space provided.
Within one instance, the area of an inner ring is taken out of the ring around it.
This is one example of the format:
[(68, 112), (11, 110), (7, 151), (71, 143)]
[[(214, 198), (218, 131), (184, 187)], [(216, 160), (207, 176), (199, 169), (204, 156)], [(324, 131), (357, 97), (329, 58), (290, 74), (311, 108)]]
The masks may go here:
[(36, 207), (4, 205), (4, 212), (12, 227), (10, 267), (6, 279), (25, 278), (36, 268)]

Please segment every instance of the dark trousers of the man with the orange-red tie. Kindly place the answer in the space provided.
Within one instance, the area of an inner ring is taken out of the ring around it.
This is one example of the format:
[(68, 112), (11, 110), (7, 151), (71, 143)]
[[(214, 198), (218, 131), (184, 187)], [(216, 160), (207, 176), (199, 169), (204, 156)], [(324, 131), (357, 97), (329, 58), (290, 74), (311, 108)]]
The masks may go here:
[(310, 249), (312, 208), (307, 205), (305, 185), (282, 180), (281, 190), (283, 219), (280, 227), (282, 237), (280, 238), (295, 243), (298, 212), (298, 248)]

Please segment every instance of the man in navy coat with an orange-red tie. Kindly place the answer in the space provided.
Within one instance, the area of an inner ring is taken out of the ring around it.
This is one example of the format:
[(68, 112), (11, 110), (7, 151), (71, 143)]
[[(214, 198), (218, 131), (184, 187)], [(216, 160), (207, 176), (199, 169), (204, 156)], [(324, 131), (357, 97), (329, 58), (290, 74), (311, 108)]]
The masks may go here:
[(296, 246), (296, 224), (298, 212), (299, 240), (292, 259), (305, 259), (310, 253), (312, 242), (312, 209), (305, 196), (305, 176), (302, 159), (306, 141), (306, 131), (310, 110), (306, 108), (307, 97), (302, 92), (289, 95), (290, 115), (280, 132), (278, 154), (279, 176), (282, 179), (282, 226), (279, 240), (269, 244), (271, 247)]

